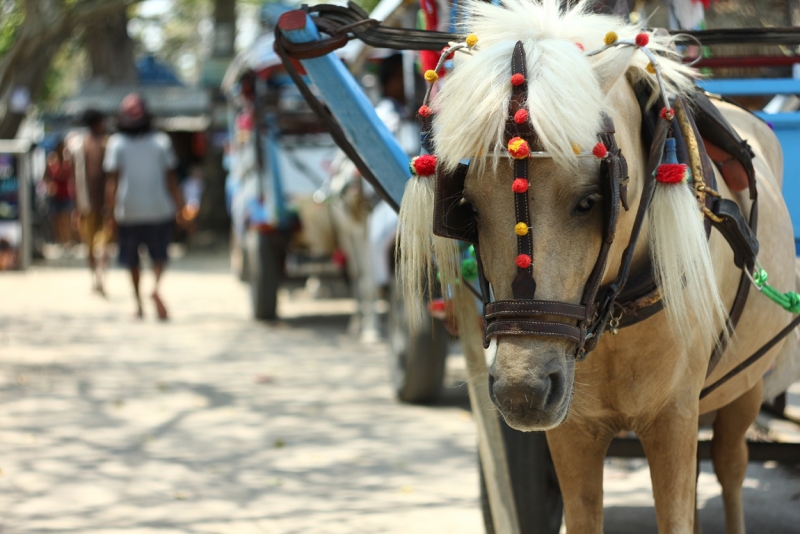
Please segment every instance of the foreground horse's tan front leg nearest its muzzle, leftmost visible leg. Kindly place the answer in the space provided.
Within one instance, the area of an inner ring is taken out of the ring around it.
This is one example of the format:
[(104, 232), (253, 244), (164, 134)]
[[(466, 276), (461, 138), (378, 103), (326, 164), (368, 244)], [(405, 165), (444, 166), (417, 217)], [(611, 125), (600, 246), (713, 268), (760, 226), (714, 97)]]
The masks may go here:
[(603, 460), (611, 437), (569, 421), (547, 431), (570, 534), (603, 532)]

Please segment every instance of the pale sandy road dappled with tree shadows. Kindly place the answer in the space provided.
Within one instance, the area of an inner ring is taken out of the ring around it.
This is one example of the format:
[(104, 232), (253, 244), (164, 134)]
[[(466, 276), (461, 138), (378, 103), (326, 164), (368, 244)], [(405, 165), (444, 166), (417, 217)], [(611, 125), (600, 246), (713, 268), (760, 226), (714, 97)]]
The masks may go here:
[[(483, 532), (464, 387), (396, 403), (348, 301), (283, 300), (264, 325), (224, 256), (167, 276), (159, 324), (131, 319), (118, 270), (106, 300), (77, 267), (0, 274), (0, 533)], [(606, 479), (606, 532), (654, 532), (646, 466)], [(745, 487), (752, 532), (800, 532), (796, 471), (751, 465)]]

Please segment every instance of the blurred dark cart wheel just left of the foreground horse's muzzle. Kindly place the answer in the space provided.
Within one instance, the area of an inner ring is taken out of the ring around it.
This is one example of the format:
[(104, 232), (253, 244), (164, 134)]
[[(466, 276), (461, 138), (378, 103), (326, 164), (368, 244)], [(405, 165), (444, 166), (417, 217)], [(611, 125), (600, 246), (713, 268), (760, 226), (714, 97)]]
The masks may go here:
[(450, 335), (438, 319), (421, 321), (411, 331), (402, 293), (394, 281), (389, 286), (389, 302), (389, 366), (397, 398), (431, 402), (442, 390)]

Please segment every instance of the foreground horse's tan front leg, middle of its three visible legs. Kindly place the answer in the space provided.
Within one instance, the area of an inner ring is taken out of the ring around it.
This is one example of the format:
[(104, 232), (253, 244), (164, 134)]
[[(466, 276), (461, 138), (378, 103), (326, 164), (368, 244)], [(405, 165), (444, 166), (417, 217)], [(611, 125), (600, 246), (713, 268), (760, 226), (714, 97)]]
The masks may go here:
[(697, 407), (696, 401), (667, 406), (637, 429), (650, 464), (659, 534), (694, 530)]

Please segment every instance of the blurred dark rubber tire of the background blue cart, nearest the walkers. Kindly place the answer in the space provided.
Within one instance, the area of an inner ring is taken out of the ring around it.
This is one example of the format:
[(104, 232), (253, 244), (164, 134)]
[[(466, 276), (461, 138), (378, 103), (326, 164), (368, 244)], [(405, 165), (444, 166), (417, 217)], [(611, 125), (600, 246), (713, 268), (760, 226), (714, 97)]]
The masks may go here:
[(261, 321), (275, 319), (281, 284), (280, 244), (274, 236), (250, 230), (246, 249), (253, 317)]

